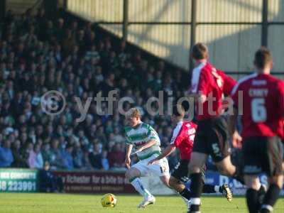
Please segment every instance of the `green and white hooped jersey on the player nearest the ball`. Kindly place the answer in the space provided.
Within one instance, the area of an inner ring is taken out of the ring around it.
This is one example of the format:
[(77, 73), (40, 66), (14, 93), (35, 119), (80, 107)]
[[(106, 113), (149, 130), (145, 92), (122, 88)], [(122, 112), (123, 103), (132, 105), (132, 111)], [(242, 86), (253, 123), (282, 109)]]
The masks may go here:
[(128, 126), (124, 130), (127, 140), (126, 143), (132, 144), (133, 148), (138, 148), (151, 139), (155, 140), (155, 144), (153, 146), (137, 153), (139, 160), (150, 158), (153, 154), (160, 154), (160, 138), (152, 126), (141, 122), (141, 124), (139, 124), (139, 126), (135, 129)]

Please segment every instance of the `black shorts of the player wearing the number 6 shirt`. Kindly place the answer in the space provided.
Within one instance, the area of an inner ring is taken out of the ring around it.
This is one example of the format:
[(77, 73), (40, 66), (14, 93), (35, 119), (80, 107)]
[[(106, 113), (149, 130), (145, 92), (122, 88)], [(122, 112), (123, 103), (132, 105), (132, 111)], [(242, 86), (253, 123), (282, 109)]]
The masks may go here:
[(246, 175), (266, 173), (268, 177), (273, 177), (283, 173), (283, 146), (277, 136), (246, 138), (242, 153)]

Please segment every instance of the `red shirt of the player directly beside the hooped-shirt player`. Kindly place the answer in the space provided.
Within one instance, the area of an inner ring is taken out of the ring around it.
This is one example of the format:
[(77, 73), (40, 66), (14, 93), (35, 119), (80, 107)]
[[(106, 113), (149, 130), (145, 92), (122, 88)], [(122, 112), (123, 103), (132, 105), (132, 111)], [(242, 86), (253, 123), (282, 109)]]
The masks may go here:
[(174, 144), (180, 150), (182, 160), (190, 160), (196, 128), (197, 125), (190, 121), (180, 121), (173, 131), (170, 144)]

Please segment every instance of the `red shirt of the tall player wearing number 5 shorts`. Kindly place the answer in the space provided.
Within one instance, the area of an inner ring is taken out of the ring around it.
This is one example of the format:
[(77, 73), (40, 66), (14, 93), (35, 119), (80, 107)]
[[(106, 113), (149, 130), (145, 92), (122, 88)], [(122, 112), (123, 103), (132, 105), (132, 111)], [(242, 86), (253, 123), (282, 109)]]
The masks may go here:
[(236, 81), (209, 62), (201, 63), (192, 71), (191, 92), (207, 97), (202, 106), (197, 104), (197, 120), (210, 119), (222, 113), (224, 94), (231, 94)]

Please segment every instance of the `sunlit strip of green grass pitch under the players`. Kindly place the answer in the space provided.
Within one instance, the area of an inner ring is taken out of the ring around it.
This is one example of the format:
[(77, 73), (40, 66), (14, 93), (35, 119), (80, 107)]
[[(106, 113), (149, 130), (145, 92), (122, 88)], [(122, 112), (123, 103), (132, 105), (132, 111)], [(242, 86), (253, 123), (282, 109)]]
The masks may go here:
[[(156, 202), (146, 209), (137, 209), (142, 198), (138, 195), (116, 195), (117, 205), (114, 208), (101, 206), (102, 195), (70, 194), (22, 194), (1, 193), (0, 212), (3, 213), (135, 213), (135, 212), (186, 212), (185, 203), (178, 196), (156, 196)], [(224, 197), (202, 197), (202, 212), (210, 213), (244, 213), (244, 197), (234, 197), (227, 202)], [(284, 212), (284, 198), (275, 206), (275, 213)]]

